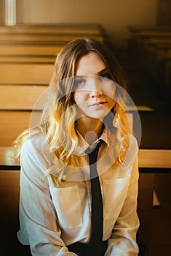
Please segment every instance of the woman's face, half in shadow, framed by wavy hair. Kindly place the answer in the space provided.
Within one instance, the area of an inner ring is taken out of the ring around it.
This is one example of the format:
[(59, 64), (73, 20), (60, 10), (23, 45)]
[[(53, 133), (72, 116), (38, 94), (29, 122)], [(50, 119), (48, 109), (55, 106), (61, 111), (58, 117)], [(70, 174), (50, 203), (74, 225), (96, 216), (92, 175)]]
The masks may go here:
[(81, 57), (76, 69), (73, 98), (84, 116), (103, 119), (114, 107), (116, 87), (98, 53)]

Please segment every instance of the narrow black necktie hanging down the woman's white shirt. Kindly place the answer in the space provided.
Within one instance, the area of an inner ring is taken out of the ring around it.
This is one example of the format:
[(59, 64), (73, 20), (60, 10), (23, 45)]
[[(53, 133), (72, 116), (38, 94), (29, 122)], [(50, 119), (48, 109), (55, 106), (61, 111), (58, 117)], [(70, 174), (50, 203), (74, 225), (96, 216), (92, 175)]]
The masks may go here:
[(90, 162), (90, 179), (92, 188), (92, 234), (90, 244), (97, 250), (103, 239), (103, 200), (98, 178), (97, 158), (102, 140), (100, 140), (94, 150), (87, 148)]

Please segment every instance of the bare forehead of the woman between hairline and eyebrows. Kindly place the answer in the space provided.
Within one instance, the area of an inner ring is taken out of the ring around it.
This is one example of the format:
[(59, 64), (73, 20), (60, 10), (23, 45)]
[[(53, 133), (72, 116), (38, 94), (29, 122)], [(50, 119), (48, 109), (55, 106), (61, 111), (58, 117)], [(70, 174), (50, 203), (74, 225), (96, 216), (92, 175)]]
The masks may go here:
[(99, 75), (100, 71), (105, 68), (106, 65), (98, 53), (90, 52), (79, 59), (76, 75)]

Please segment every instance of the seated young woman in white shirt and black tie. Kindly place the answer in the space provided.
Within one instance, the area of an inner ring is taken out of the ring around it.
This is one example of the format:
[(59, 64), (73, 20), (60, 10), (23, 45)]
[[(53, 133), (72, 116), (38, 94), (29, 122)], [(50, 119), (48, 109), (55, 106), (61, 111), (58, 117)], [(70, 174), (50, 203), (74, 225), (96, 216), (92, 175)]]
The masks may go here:
[[(40, 125), (15, 141), (17, 237), (32, 255), (138, 255), (138, 143), (124, 109), (125, 89), (122, 68), (95, 39), (76, 39), (57, 55)], [(92, 168), (98, 175), (90, 176)], [(100, 190), (92, 195), (97, 176)]]

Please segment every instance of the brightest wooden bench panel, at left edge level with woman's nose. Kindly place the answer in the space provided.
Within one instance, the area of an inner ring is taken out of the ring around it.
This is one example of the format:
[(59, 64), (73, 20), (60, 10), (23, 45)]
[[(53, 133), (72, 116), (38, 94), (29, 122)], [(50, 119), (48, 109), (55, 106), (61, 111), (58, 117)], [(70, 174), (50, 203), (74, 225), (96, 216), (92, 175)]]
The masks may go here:
[(0, 85), (0, 110), (32, 110), (36, 100), (47, 88), (48, 86)]

